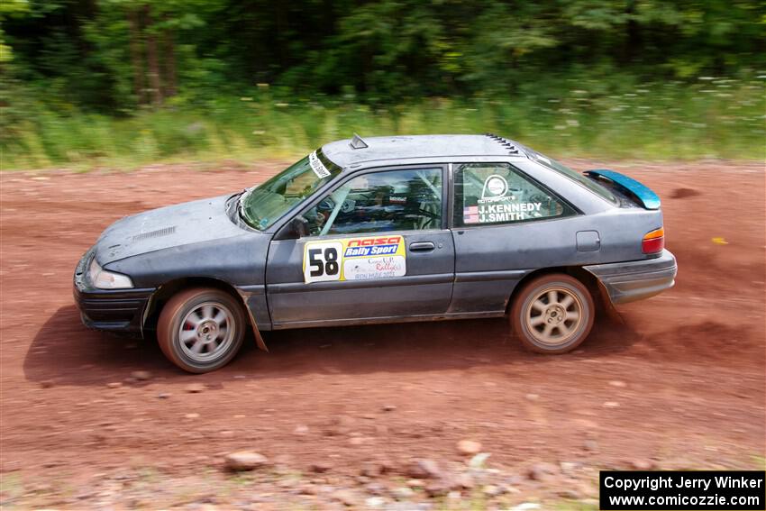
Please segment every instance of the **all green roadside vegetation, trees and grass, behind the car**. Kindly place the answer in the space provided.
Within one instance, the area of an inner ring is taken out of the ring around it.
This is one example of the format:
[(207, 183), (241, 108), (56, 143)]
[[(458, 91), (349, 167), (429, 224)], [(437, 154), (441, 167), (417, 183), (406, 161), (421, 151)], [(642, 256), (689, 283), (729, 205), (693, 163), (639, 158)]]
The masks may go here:
[(764, 19), (721, 0), (8, 0), (2, 169), (289, 160), (352, 132), (762, 160)]

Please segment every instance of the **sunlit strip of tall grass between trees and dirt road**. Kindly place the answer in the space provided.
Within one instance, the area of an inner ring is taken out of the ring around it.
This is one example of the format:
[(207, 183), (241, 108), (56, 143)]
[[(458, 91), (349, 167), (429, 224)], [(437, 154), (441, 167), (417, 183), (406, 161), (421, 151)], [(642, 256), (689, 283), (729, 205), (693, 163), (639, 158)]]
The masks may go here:
[(0, 169), (132, 168), (158, 161), (296, 159), (327, 141), (398, 133), (497, 132), (554, 157), (763, 160), (766, 76), (599, 88), (596, 80), (515, 97), (430, 98), (372, 107), (280, 99), (269, 87), (113, 117), (39, 107), (0, 135)]

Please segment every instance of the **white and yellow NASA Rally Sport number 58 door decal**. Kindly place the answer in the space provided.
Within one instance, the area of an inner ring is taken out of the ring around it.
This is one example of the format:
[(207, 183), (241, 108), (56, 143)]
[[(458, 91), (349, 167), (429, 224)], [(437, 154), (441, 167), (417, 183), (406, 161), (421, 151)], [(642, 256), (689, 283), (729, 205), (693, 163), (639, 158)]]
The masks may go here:
[(406, 275), (405, 239), (368, 236), (307, 242), (303, 255), (305, 283), (369, 280)]

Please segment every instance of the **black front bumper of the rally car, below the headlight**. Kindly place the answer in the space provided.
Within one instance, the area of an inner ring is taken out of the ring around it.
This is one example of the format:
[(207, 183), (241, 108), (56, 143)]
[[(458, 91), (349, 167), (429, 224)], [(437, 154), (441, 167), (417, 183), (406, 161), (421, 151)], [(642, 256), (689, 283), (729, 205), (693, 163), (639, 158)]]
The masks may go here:
[(96, 330), (141, 333), (143, 313), (153, 288), (98, 289), (87, 278), (94, 251), (87, 251), (75, 269), (73, 294), (83, 324)]

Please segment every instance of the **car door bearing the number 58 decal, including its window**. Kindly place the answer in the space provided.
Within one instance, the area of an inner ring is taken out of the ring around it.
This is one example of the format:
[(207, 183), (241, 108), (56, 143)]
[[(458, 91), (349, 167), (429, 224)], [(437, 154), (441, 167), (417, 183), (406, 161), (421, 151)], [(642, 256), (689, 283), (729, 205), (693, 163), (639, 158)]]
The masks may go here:
[(440, 165), (364, 170), (303, 209), (303, 235), (280, 231), (269, 247), (274, 328), (445, 313), (455, 260), (445, 183)]

